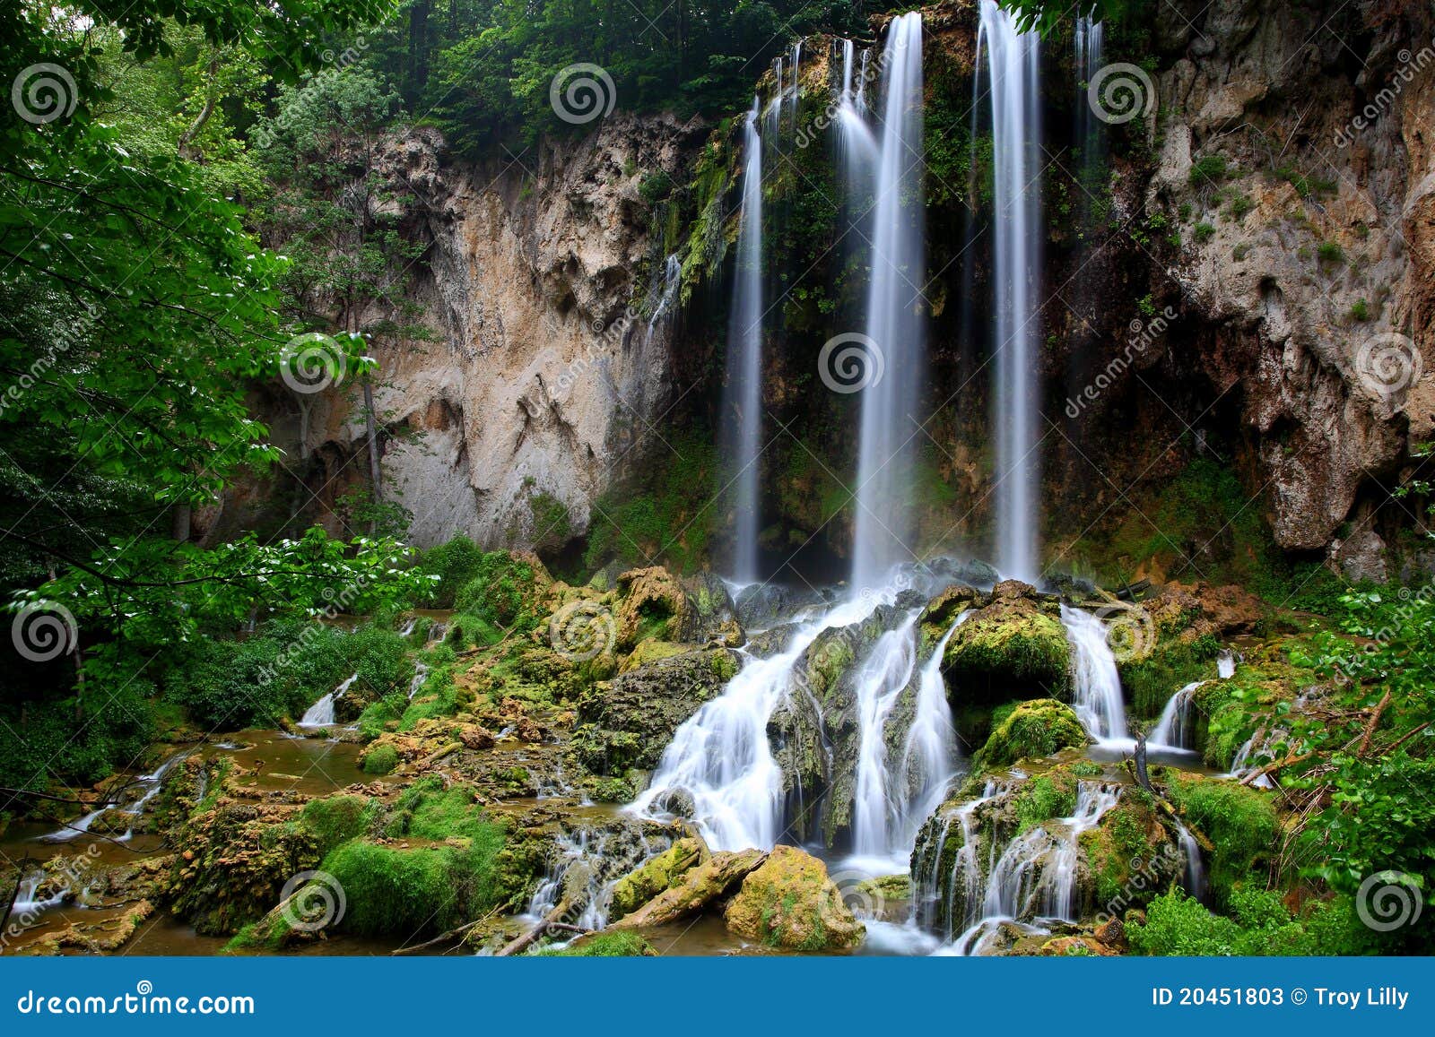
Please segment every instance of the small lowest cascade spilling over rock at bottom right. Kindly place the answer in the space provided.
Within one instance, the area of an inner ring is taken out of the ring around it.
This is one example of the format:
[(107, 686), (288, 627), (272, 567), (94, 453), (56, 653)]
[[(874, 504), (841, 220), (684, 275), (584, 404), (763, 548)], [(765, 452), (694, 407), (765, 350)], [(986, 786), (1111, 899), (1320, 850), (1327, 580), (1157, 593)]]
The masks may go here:
[[(1076, 809), (1069, 818), (1046, 822), (1009, 842), (987, 872), (980, 918), (956, 938), (951, 950), (980, 954), (1003, 921), (1076, 921), (1081, 833), (1095, 828), (1119, 797), (1119, 785), (1079, 782)], [(957, 866), (966, 866), (971, 858), (959, 858)], [(961, 879), (970, 882), (969, 876)]]

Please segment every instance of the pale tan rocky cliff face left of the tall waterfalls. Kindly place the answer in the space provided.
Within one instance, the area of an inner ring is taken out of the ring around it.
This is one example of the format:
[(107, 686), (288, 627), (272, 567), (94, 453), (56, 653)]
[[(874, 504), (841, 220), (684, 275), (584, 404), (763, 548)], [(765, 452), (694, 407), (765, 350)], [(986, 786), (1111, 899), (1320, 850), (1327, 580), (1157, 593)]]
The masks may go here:
[[(383, 143), (377, 204), (425, 247), (408, 301), (426, 338), (372, 347), (385, 485), (413, 513), (415, 544), (561, 545), (587, 529), (670, 399), (667, 328), (650, 320), (663, 257), (640, 186), (680, 176), (705, 136), (696, 122), (614, 115), (484, 168), (445, 162), (430, 129)], [(303, 446), (293, 402), (265, 409), (291, 456), (323, 459), (310, 482), (362, 478), (352, 386), (317, 400)]]

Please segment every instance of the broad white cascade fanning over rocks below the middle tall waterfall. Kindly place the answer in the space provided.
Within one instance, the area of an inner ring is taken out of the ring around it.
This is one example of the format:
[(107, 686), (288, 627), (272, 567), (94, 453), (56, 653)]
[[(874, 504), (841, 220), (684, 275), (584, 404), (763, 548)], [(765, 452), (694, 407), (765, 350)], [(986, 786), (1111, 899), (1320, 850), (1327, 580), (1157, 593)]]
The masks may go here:
[[(921, 648), (930, 574), (897, 572), (773, 633), (781, 648), (742, 648), (718, 699), (673, 736), (639, 816), (689, 816), (715, 851), (771, 849), (821, 828), (878, 873), (901, 871), (957, 766), (941, 653)], [(761, 645), (762, 640), (759, 640)]]

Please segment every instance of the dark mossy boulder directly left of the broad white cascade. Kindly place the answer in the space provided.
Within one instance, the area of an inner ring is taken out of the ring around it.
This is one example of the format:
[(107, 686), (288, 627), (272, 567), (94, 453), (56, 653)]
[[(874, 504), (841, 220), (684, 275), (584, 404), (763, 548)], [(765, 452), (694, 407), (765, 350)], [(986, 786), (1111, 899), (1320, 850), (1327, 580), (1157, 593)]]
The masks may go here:
[(739, 664), (730, 648), (706, 648), (593, 684), (578, 697), (568, 743), (574, 762), (603, 776), (621, 776), (633, 767), (651, 770), (679, 726), (722, 694)]

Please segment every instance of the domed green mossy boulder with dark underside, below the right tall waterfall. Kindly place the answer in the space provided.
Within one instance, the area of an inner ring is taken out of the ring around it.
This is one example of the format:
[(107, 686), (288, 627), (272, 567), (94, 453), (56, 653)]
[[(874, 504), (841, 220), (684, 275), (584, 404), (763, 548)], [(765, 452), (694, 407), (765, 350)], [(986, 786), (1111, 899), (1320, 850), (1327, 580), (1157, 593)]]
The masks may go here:
[(956, 628), (941, 668), (964, 697), (1002, 701), (1071, 697), (1071, 666), (1059, 605), (1009, 579)]

